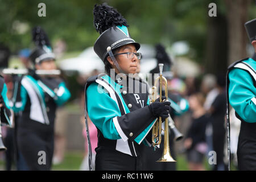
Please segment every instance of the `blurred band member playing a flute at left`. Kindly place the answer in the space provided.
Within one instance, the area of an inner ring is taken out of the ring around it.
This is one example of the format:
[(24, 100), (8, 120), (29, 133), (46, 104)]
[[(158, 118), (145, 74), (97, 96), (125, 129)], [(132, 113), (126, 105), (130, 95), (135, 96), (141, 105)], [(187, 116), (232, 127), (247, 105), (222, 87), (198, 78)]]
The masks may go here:
[[(35, 70), (56, 69), (46, 33), (40, 27), (32, 30), (36, 48), (30, 54), (35, 69), (22, 77), (20, 104), (14, 104), (18, 117), (18, 150), (30, 170), (49, 170), (54, 148), (54, 120), (57, 106), (63, 105), (71, 96), (61, 78), (36, 75)], [(39, 162), (44, 155), (46, 160)]]

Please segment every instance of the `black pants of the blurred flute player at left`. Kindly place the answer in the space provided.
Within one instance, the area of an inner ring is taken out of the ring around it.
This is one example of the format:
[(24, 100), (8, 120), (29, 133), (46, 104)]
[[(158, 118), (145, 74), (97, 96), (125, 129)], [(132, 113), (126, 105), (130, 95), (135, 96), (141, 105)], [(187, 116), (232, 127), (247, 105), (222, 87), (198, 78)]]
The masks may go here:
[(29, 121), (30, 126), (19, 126), (18, 148), (32, 171), (51, 169), (54, 149), (54, 132), (50, 126)]

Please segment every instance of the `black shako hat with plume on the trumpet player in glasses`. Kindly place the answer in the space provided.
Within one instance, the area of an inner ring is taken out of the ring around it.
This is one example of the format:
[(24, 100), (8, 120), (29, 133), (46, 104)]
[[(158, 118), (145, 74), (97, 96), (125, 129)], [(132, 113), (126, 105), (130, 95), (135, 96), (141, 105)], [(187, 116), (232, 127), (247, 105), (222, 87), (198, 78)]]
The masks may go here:
[(139, 43), (131, 38), (126, 19), (116, 9), (102, 3), (102, 5), (94, 6), (93, 15), (94, 27), (101, 34), (94, 43), (94, 51), (102, 61), (107, 56), (113, 58), (111, 50), (126, 44), (134, 44), (137, 51), (141, 47)]

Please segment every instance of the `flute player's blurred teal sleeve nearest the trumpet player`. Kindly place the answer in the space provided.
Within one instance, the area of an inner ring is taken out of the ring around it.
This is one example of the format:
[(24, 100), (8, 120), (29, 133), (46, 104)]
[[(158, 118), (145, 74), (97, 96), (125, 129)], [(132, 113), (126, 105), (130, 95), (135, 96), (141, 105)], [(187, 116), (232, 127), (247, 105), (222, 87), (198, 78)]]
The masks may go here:
[(55, 103), (58, 106), (63, 105), (65, 102), (67, 102), (69, 100), (69, 98), (71, 97), (71, 93), (69, 92), (69, 90), (67, 89), (66, 85), (64, 82), (61, 82), (59, 85), (59, 88), (57, 90), (56, 93), (57, 97), (55, 100)]

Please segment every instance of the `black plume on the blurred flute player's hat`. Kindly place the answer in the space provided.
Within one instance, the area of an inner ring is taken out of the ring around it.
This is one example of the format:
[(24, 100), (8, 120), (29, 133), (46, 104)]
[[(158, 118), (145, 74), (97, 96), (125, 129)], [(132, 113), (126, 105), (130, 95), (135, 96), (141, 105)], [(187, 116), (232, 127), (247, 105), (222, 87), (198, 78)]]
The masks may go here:
[(36, 26), (32, 29), (32, 40), (36, 46), (43, 47), (45, 45), (51, 47), (46, 32), (39, 26)]

